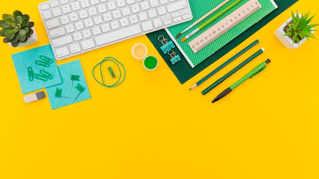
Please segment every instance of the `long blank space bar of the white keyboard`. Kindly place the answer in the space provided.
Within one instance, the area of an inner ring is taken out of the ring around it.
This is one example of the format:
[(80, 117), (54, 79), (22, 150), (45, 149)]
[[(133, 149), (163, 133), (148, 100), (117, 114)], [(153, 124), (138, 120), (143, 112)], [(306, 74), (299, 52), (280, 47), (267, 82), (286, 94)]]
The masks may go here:
[(97, 36), (95, 37), (95, 42), (96, 42), (96, 45), (99, 46), (99, 45), (107, 44), (110, 42), (114, 42), (120, 39), (124, 39), (126, 37), (141, 34), (141, 33), (142, 33), (142, 29), (140, 24), (136, 24), (136, 25), (119, 29), (118, 31), (113, 31), (108, 34)]

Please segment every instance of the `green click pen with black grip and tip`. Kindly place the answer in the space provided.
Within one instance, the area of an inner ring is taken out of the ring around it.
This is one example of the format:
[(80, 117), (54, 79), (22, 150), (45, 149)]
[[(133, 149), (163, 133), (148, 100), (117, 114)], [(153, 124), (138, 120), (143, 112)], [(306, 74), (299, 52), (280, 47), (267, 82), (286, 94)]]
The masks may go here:
[(226, 95), (228, 95), (232, 90), (234, 90), (235, 87), (239, 86), (240, 84), (242, 84), (246, 79), (248, 78), (252, 78), (255, 75), (257, 75), (258, 73), (260, 73), (261, 71), (263, 71), (266, 68), (266, 65), (270, 63), (270, 59), (267, 59), (267, 61), (261, 63), (260, 65), (258, 65), (257, 67), (255, 67), (252, 71), (250, 71), (247, 75), (245, 75), (242, 79), (238, 80), (237, 82), (235, 82), (233, 85), (231, 85), (230, 87), (228, 87), (226, 90), (224, 90), (221, 94), (219, 94), (214, 100), (212, 100), (212, 103), (222, 99), (223, 97), (225, 97)]

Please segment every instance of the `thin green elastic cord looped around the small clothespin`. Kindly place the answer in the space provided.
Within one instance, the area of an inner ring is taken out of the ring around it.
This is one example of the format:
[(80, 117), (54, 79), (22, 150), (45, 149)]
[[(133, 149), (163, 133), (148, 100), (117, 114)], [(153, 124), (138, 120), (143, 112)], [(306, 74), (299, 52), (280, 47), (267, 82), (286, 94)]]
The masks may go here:
[[(102, 63), (103, 63), (103, 62), (106, 62), (106, 61), (111, 61), (111, 62), (115, 63), (115, 65), (117, 66), (117, 68), (118, 68), (119, 71), (120, 71), (119, 79), (118, 79), (114, 84), (112, 84), (112, 85), (106, 85), (106, 84), (104, 83), (103, 73), (102, 73)], [(123, 70), (124, 70), (123, 79), (122, 79), (121, 81), (120, 81), (120, 79), (121, 79), (121, 76), (122, 76), (122, 72), (121, 72), (120, 66), (119, 66), (118, 64), (120, 64), (120, 65), (123, 67)], [(94, 76), (94, 70), (95, 70), (95, 68), (96, 68), (98, 65), (100, 66), (100, 74), (101, 74), (102, 82), (98, 81), (98, 80), (95, 78), (95, 76)], [(113, 58), (113, 57), (111, 57), (111, 56), (105, 57), (105, 58), (102, 60), (102, 62), (96, 64), (96, 65), (94, 66), (94, 68), (93, 68), (92, 73), (93, 73), (93, 78), (95, 79), (95, 81), (98, 82), (100, 85), (105, 86), (105, 87), (115, 87), (115, 86), (121, 84), (121, 83), (124, 81), (124, 79), (125, 79), (125, 68), (124, 68), (124, 66), (123, 66), (117, 59), (115, 59), (115, 58)], [(119, 81), (120, 81), (120, 82), (119, 82)]]

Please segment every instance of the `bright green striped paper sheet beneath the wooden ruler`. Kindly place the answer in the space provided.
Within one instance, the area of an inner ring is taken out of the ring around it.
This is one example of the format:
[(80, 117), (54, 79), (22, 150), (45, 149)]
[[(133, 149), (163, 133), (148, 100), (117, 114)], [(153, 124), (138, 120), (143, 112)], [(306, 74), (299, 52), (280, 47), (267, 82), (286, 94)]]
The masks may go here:
[[(209, 12), (210, 10), (214, 9), (216, 6), (221, 4), (224, 0), (217, 0), (217, 1), (210, 1), (210, 0), (202, 0), (201, 3), (198, 3), (196, 1), (190, 1), (190, 6), (192, 7), (192, 12), (194, 18), (191, 21), (181, 23), (178, 25), (174, 25), (171, 27), (168, 27), (168, 31), (172, 34), (173, 37), (176, 37), (177, 34), (179, 34), (183, 29), (190, 26), (193, 22), (195, 22), (197, 19), (202, 17), (204, 14)], [(191, 67), (195, 67), (199, 63), (201, 63), (204, 59), (206, 59), (211, 54), (215, 53), (218, 49), (223, 47), (225, 44), (230, 42), (232, 39), (234, 39), (236, 36), (240, 35), (246, 29), (248, 29), (250, 26), (258, 22), (260, 19), (262, 19), (264, 16), (271, 13), (273, 10), (276, 9), (274, 6), (274, 2), (270, 0), (243, 0), (240, 3), (236, 4), (234, 7), (226, 11), (224, 14), (222, 14), (220, 17), (218, 17), (216, 20), (211, 22), (209, 25), (202, 28), (199, 32), (197, 32), (195, 35), (190, 37), (184, 42), (180, 42), (180, 39), (182, 39), (185, 35), (192, 32), (194, 29), (196, 29), (199, 25), (204, 23), (207, 19), (217, 14), (219, 11), (223, 10), (225, 7), (227, 7), (229, 4), (233, 3), (235, 0), (229, 1), (226, 5), (219, 8), (215, 13), (208, 16), (206, 19), (204, 19), (202, 22), (198, 23), (189, 31), (183, 33), (182, 37), (179, 37), (176, 39), (175, 43), (178, 43), (179, 46), (182, 48), (182, 50), (185, 52), (186, 56), (188, 56), (188, 61), (191, 65)], [(229, 31), (227, 31), (225, 34), (223, 34), (221, 37), (216, 39), (215, 41), (212, 41), (209, 45), (198, 51), (197, 53), (194, 53), (191, 47), (188, 45), (189, 42), (191, 42), (193, 39), (195, 39), (197, 36), (199, 36), (201, 33), (204, 33), (208, 28), (210, 28), (215, 23), (219, 22), (229, 14), (231, 14), (236, 9), (243, 6), (245, 3), (249, 1), (258, 1), (262, 8), (248, 16), (246, 19), (244, 19), (242, 22), (238, 23), (234, 27), (230, 28)]]

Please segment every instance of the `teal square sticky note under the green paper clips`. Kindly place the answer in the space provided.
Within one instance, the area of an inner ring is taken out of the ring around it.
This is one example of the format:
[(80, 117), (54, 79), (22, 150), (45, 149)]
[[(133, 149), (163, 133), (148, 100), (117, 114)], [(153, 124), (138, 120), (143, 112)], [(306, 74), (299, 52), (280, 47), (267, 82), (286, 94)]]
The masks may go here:
[[(36, 61), (43, 62), (40, 59), (40, 55), (46, 56), (52, 60), (50, 61), (50, 63), (46, 63), (48, 67), (43, 67), (41, 65), (36, 64)], [(13, 59), (15, 70), (18, 75), (22, 94), (34, 92), (37, 90), (41, 90), (42, 88), (46, 88), (48, 86), (61, 83), (59, 70), (50, 45), (45, 45), (42, 47), (22, 51), (19, 53), (12, 54), (11, 56)], [(30, 69), (32, 69), (32, 72), (35, 75), (40, 74), (40, 76), (43, 76), (42, 73), (46, 72), (46, 76), (50, 76), (50, 78), (52, 79), (47, 78), (46, 81), (43, 81), (41, 79), (33, 77), (33, 79), (31, 78), (31, 80), (29, 79), (28, 68), (29, 71)], [(40, 73), (40, 71), (42, 73)]]

